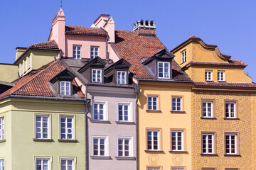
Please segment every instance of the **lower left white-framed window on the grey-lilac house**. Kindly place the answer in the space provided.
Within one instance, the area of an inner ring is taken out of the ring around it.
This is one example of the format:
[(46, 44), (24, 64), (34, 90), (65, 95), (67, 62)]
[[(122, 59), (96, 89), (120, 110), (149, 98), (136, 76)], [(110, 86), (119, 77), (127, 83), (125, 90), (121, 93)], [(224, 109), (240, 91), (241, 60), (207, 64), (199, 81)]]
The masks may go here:
[(107, 156), (107, 138), (93, 137), (93, 156)]

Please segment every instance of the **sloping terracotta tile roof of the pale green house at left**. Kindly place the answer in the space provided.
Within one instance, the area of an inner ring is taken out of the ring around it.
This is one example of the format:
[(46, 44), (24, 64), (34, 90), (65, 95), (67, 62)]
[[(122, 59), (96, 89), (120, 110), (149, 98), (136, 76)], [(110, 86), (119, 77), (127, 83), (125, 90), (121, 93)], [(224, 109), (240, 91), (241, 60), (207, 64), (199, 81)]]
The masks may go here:
[[(55, 97), (48, 81), (64, 69), (66, 67), (61, 60), (56, 60), (44, 65), (40, 69), (32, 70), (24, 77), (21, 77), (21, 79), (16, 79), (13, 82), (15, 86), (1, 94), (0, 98), (10, 95)], [(73, 87), (80, 97), (85, 97), (75, 80), (73, 81)]]

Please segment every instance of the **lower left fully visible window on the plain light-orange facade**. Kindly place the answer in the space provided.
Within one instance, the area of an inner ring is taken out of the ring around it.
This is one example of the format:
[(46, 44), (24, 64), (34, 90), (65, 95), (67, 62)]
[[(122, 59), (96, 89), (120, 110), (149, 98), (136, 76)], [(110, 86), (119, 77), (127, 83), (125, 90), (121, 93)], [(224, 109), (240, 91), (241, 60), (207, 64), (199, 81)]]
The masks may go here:
[(159, 150), (159, 130), (147, 130), (146, 141), (148, 150)]

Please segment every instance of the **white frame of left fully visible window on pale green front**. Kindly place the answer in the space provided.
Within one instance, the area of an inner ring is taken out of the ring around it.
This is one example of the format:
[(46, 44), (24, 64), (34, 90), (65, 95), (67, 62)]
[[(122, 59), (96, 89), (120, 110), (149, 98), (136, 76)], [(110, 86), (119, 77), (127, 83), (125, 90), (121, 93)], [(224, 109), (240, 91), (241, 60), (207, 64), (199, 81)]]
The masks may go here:
[[(37, 126), (37, 123), (38, 123), (37, 118), (38, 117), (41, 117), (41, 120), (40, 120), (41, 126), (40, 127)], [(43, 132), (43, 117), (44, 118), (47, 117), (47, 132), (46, 132), (47, 137), (43, 137), (43, 133), (45, 133), (45, 132)], [(50, 116), (49, 115), (36, 115), (35, 122), (36, 122), (35, 138), (36, 139), (50, 139)], [(37, 129), (39, 129), (40, 132), (37, 132)], [(37, 134), (40, 134), (41, 137), (37, 137)]]

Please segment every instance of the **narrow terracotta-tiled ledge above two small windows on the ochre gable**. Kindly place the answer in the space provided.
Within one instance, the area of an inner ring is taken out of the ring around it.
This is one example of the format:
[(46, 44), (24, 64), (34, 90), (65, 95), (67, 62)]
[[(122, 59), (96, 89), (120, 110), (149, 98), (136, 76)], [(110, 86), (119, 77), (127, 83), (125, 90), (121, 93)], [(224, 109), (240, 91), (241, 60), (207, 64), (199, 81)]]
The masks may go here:
[(246, 67), (247, 64), (245, 62), (242, 62), (240, 60), (228, 60), (228, 62), (195, 62), (191, 61), (188, 62), (185, 66), (182, 67), (182, 69), (186, 69), (190, 67), (191, 65), (204, 65), (204, 66), (209, 66), (209, 65), (215, 65), (215, 66), (224, 66), (224, 67)]

